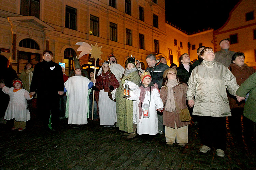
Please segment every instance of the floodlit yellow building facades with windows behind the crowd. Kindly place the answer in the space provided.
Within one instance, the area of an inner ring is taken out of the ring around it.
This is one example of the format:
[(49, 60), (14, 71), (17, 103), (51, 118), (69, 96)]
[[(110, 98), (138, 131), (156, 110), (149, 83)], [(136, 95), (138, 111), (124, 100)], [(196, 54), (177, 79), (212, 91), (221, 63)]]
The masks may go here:
[[(75, 45), (80, 41), (102, 46), (99, 65), (113, 53), (124, 67), (126, 57), (133, 55), (146, 68), (149, 54), (157, 59), (164, 56), (168, 65), (179, 66), (183, 53), (195, 61), (199, 46), (218, 51), (219, 40), (238, 34), (239, 41), (230, 50), (244, 52), (245, 61), (253, 66), (255, 12), (252, 20), (245, 21), (244, 16), (255, 10), (255, 1), (241, 0), (222, 28), (188, 35), (166, 21), (164, 0), (2, 0), (0, 48), (19, 73), (28, 61), (38, 63), (46, 49), (53, 51), (56, 63), (66, 63), (68, 73), (71, 58), (80, 54)], [(81, 62), (92, 63), (89, 55)]]

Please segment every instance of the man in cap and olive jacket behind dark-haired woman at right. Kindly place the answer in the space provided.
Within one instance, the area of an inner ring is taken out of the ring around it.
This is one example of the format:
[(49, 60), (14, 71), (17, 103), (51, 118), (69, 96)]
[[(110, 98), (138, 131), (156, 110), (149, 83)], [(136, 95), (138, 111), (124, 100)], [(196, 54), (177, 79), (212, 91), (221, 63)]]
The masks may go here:
[(224, 64), (224, 66), (228, 67), (231, 64), (231, 58), (234, 55), (234, 51), (229, 51), (230, 43), (229, 38), (225, 38), (219, 41), (219, 47), (221, 47), (221, 51), (215, 52), (215, 60), (219, 63)]

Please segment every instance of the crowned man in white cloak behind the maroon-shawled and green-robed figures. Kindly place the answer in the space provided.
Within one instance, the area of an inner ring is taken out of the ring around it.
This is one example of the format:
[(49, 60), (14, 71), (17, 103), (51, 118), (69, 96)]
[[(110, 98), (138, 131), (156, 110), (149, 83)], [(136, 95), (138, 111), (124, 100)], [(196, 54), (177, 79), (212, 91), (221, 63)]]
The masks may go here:
[(125, 72), (125, 69), (120, 64), (117, 64), (116, 56), (114, 54), (110, 54), (109, 64), (110, 64), (110, 71), (115, 75), (118, 82), (121, 83), (121, 78)]

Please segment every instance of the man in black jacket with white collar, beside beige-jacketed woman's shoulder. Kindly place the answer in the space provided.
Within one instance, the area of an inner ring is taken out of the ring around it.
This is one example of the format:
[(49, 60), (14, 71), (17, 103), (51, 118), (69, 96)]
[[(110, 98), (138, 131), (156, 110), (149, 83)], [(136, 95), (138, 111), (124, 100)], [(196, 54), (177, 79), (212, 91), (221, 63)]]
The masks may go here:
[(190, 64), (190, 57), (187, 53), (184, 53), (179, 58), (180, 66), (176, 69), (177, 70), (177, 77), (182, 80), (182, 82), (188, 82), (190, 74), (194, 67)]

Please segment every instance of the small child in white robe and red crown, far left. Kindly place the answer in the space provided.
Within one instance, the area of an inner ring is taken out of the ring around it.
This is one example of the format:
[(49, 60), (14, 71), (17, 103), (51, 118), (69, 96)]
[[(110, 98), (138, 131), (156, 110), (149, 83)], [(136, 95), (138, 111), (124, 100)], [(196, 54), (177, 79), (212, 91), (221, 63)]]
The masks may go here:
[(12, 130), (23, 131), (26, 129), (26, 121), (30, 120), (27, 100), (32, 99), (33, 96), (22, 88), (20, 79), (15, 79), (11, 88), (6, 87), (3, 83), (0, 84), (0, 88), (3, 88), (2, 91), (10, 96), (4, 119), (11, 120), (15, 118)]

